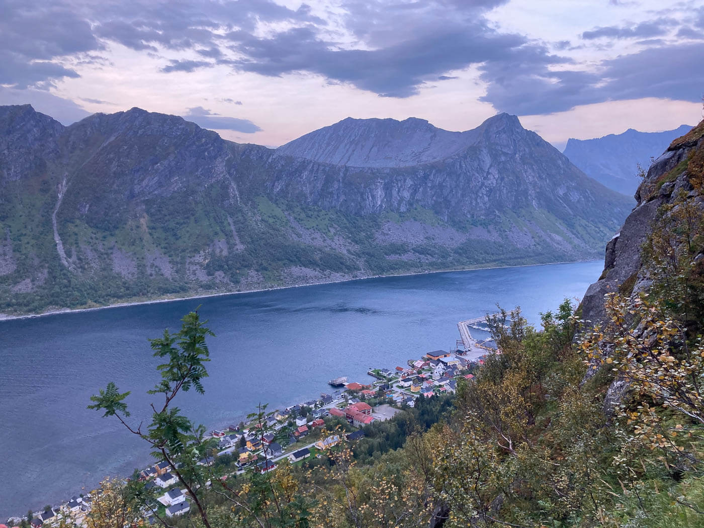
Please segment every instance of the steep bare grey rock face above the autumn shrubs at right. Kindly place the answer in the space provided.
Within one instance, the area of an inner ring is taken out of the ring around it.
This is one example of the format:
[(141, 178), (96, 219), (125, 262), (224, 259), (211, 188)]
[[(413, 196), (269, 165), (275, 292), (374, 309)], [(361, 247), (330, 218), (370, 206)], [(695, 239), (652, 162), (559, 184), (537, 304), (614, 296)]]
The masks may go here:
[[(673, 203), (680, 191), (687, 200), (697, 204), (704, 215), (700, 191), (692, 184), (700, 177), (689, 168), (688, 161), (704, 151), (704, 121), (683, 137), (675, 139), (665, 153), (656, 159), (636, 191), (636, 207), (624, 225), (606, 245), (604, 271), (591, 284), (582, 299), (582, 315), (593, 323), (604, 320), (604, 296), (610, 291), (637, 294), (650, 284), (643, 269), (641, 248), (650, 234), (658, 209)], [(627, 291), (624, 291), (624, 287)]]

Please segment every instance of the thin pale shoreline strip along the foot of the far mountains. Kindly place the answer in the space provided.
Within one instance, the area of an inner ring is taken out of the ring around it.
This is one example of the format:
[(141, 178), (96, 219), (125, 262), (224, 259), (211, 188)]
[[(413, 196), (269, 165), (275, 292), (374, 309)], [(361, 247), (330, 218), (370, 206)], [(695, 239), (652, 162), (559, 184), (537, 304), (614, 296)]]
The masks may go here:
[(111, 308), (125, 308), (128, 306), (141, 306), (156, 303), (171, 303), (175, 301), (189, 301), (201, 298), (211, 298), (211, 297), (222, 297), (227, 295), (241, 295), (241, 294), (256, 294), (263, 291), (276, 291), (280, 289), (293, 289), (293, 288), (303, 288), (306, 286), (320, 286), (322, 284), (341, 284), (342, 282), (356, 282), (360, 280), (368, 279), (385, 279), (388, 277), (413, 277), (415, 275), (433, 275), (434, 273), (448, 273), (448, 272), (465, 272), (465, 271), (480, 271), (480, 270), (505, 270), (509, 268), (532, 268), (534, 266), (549, 266), (554, 264), (576, 264), (582, 262), (596, 262), (599, 259), (594, 260), (563, 260), (558, 262), (546, 262), (541, 264), (519, 264), (515, 266), (486, 266), (486, 268), (453, 268), (447, 270), (434, 270), (434, 271), (421, 271), (421, 272), (411, 272), (411, 273), (394, 273), (391, 275), (370, 275), (368, 277), (357, 277), (355, 279), (341, 279), (341, 280), (331, 280), (322, 282), (308, 282), (306, 284), (291, 284), (291, 286), (277, 286), (270, 288), (259, 288), (251, 289), (246, 291), (227, 291), (218, 294), (204, 294), (204, 295), (194, 295), (187, 297), (175, 297), (175, 298), (155, 298), (150, 301), (134, 301), (126, 303), (115, 303), (108, 304), (107, 306), (95, 306), (93, 308), (65, 308), (62, 310), (51, 310), (44, 313), (28, 313), (25, 315), (8, 315), (5, 313), (0, 313), (0, 324), (4, 321), (22, 320), (22, 319), (34, 319), (43, 318), (49, 315), (63, 315), (68, 313), (82, 313), (82, 312), (92, 312), (96, 310), (109, 310)]

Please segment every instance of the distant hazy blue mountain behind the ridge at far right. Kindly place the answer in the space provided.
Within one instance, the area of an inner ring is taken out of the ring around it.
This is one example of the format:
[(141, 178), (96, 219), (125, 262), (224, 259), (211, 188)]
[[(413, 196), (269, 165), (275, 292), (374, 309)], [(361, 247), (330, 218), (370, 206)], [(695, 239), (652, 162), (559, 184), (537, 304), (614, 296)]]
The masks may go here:
[(641, 182), (638, 165), (647, 168), (652, 158), (691, 128), (681, 125), (666, 132), (638, 132), (629, 128), (622, 134), (596, 139), (569, 139), (562, 153), (597, 182), (631, 196)]

